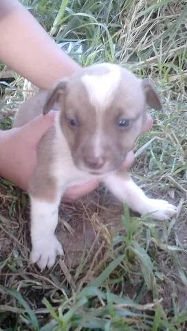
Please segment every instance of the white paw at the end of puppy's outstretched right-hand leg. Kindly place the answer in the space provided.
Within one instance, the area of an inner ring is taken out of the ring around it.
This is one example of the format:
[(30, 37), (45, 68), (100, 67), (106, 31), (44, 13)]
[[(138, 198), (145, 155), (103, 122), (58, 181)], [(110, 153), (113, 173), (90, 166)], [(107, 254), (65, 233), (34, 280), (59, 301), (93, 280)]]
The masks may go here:
[(159, 221), (169, 219), (176, 214), (177, 207), (166, 200), (148, 199), (148, 212), (153, 212), (153, 217)]

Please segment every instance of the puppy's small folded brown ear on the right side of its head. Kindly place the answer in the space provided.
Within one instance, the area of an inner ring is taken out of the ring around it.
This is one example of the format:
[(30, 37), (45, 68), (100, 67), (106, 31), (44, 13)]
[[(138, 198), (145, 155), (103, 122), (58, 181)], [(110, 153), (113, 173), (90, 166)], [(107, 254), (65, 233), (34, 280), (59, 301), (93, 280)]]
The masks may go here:
[(148, 78), (142, 79), (142, 85), (146, 94), (146, 102), (148, 103), (148, 106), (156, 110), (162, 109), (162, 103), (153, 88), (151, 80)]

